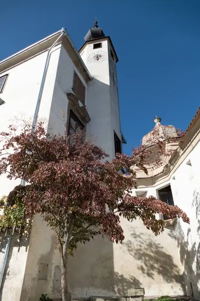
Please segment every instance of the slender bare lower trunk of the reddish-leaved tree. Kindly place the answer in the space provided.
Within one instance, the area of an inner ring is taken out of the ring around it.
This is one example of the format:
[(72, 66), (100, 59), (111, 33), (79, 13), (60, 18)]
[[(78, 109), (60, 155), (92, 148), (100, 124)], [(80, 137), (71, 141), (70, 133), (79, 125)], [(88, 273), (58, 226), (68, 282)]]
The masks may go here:
[(70, 294), (68, 291), (68, 279), (67, 279), (67, 252), (63, 253), (63, 258), (61, 256), (61, 292), (62, 301), (71, 301)]

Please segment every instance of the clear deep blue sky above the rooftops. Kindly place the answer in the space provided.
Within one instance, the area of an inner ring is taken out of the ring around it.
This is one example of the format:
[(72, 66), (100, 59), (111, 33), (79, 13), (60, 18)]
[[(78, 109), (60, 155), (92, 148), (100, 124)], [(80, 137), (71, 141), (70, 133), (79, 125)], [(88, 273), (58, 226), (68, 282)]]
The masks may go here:
[(200, 0), (8, 0), (0, 11), (0, 60), (62, 27), (78, 49), (97, 16), (119, 58), (125, 153), (153, 127), (155, 115), (163, 124), (185, 130), (195, 114), (200, 97)]

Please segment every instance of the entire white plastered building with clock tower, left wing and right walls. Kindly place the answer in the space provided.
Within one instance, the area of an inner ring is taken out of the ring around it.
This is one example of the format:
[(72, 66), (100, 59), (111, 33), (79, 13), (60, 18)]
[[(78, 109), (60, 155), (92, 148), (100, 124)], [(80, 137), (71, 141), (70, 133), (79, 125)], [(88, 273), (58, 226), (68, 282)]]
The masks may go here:
[[(95, 137), (94, 143), (113, 158), (122, 151), (124, 142), (117, 61), (110, 37), (104, 35), (96, 22), (79, 51), (62, 29), (3, 60), (0, 131), (7, 129), (14, 116), (30, 116), (33, 125), (37, 117), (45, 118), (55, 134), (73, 132), (74, 122), (78, 122), (87, 134)], [(129, 223), (124, 219), (122, 245), (101, 237), (79, 245), (68, 266), (72, 298), (122, 296), (135, 287), (144, 287), (146, 296), (193, 293), (198, 297), (198, 120), (195, 117), (184, 138), (180, 138), (173, 127), (164, 128), (156, 119), (156, 130), (144, 137), (143, 143), (147, 143), (149, 136), (175, 136), (176, 141), (166, 143), (173, 155), (163, 158), (159, 168), (153, 169), (152, 162), (147, 177), (137, 170), (138, 188), (132, 190), (133, 195), (163, 196), (163, 201), (167, 195), (171, 204), (188, 214), (190, 225), (176, 219), (166, 220), (164, 232), (155, 237), (140, 220)], [(0, 196), (7, 195), (19, 183), (0, 176)], [(1, 263), (6, 247), (3, 235)], [(54, 246), (53, 232), (38, 215), (33, 217), (31, 231), (22, 233), (20, 239), (18, 233), (12, 235), (0, 289), (3, 301), (36, 301), (41, 293), (60, 297), (60, 257)]]

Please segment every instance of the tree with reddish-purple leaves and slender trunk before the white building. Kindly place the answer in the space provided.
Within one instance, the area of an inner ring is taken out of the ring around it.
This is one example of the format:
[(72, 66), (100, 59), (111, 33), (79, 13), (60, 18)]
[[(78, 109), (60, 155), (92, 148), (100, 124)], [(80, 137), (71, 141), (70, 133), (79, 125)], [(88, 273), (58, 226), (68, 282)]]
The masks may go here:
[[(117, 154), (108, 162), (105, 152), (85, 139), (81, 131), (72, 137), (51, 135), (42, 122), (34, 132), (27, 126), (18, 135), (13, 135), (13, 127), (10, 130), (1, 133), (4, 145), (0, 150), (0, 174), (24, 179), (26, 185), (18, 185), (9, 193), (7, 206), (23, 204), (26, 218), (40, 214), (54, 230), (60, 252), (63, 301), (69, 298), (68, 255), (73, 255), (79, 242), (100, 234), (121, 243), (124, 235), (120, 217), (130, 222), (140, 218), (155, 235), (163, 231), (163, 221), (156, 220), (155, 213), (171, 218), (177, 215), (189, 222), (176, 206), (154, 197), (131, 196), (132, 187), (136, 187), (131, 167), (146, 172), (148, 148), (134, 149), (131, 157)], [(129, 176), (118, 173), (121, 169)]]

